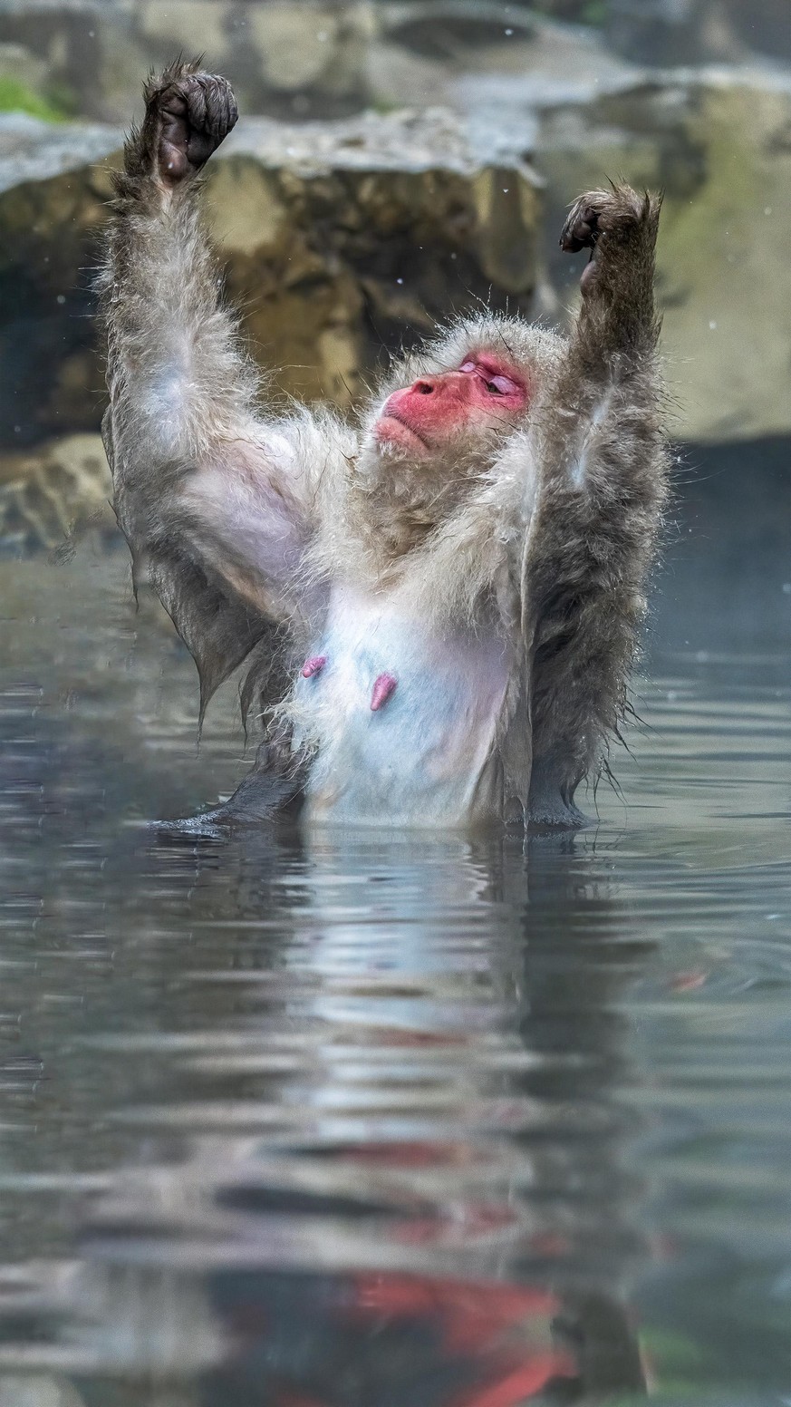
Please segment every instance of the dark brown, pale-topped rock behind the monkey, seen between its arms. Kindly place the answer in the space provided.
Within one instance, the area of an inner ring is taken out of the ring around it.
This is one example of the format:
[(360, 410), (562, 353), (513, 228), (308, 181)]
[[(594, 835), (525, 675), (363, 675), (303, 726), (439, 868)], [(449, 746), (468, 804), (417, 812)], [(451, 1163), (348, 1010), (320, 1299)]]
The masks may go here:
[[(97, 160), (118, 145), (115, 128), (0, 120), (6, 443), (97, 426), (84, 269), (110, 193)], [(524, 160), (491, 165), (449, 113), (242, 120), (208, 173), (229, 293), (281, 391), (349, 405), (450, 312), (532, 305), (539, 183)]]

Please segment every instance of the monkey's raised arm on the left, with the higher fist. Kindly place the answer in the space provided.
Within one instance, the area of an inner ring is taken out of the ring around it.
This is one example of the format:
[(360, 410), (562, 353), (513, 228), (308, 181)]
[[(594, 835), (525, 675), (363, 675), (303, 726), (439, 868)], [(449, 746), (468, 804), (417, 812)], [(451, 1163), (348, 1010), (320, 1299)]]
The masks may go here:
[(256, 377), (200, 231), (196, 177), (236, 121), (228, 83), (176, 63), (145, 98), (99, 281), (103, 432), (120, 526), (196, 658), (205, 705), (300, 609), (311, 485), (298, 439), (311, 425), (294, 436), (256, 421)]

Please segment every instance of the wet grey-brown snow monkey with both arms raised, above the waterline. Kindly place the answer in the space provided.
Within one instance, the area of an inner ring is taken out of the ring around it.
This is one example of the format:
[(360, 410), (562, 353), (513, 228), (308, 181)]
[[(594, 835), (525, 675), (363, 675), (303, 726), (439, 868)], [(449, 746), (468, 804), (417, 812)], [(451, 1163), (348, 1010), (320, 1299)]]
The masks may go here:
[[(626, 706), (667, 484), (659, 200), (581, 196), (570, 338), (453, 324), (350, 424), (266, 414), (198, 219), (236, 121), (176, 63), (145, 89), (100, 274), (115, 511), (191, 650), (203, 708), (248, 661), (256, 777), (310, 822), (576, 826)], [(255, 810), (255, 805), (253, 805)]]

